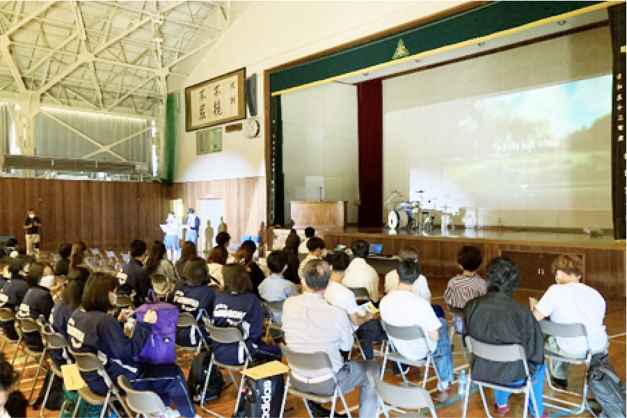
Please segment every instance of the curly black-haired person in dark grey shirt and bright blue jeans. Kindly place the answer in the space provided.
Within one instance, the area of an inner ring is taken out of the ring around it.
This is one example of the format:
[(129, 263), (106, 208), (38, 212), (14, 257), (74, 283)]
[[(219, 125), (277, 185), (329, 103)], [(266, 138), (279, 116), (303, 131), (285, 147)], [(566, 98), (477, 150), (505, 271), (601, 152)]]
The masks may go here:
[[(487, 344), (521, 344), (527, 355), (532, 376), (533, 395), (538, 413), (544, 414), (544, 337), (538, 321), (525, 306), (511, 298), (521, 278), (518, 265), (507, 257), (493, 259), (487, 266), (488, 293), (478, 296), (463, 307), (464, 325), (468, 335)], [(498, 385), (522, 385), (525, 369), (521, 362), (491, 362), (482, 358), (471, 360), (473, 378)], [(495, 390), (496, 415), (504, 416), (509, 410), (509, 392)], [(532, 397), (529, 408), (535, 409)]]

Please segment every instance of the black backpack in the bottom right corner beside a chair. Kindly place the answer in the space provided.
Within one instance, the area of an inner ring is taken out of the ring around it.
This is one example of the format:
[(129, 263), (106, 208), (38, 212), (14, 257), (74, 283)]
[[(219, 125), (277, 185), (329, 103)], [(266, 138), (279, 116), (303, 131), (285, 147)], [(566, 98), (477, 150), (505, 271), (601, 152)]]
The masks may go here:
[(625, 384), (608, 362), (607, 354), (598, 353), (592, 356), (587, 379), (590, 390), (602, 408), (598, 416), (625, 417)]

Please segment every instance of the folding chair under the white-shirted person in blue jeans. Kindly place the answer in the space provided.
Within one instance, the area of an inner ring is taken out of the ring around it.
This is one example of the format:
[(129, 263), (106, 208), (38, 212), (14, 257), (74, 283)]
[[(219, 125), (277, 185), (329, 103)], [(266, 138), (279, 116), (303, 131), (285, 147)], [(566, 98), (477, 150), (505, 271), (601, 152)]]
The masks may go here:
[[(409, 366), (415, 367), (424, 367), (424, 378), (422, 379), (422, 387), (427, 387), (427, 378), (429, 377), (429, 366), (433, 364), (434, 354), (429, 349), (429, 344), (427, 344), (427, 336), (424, 335), (424, 331), (418, 325), (411, 326), (396, 326), (390, 325), (386, 321), (381, 321), (381, 326), (383, 330), (386, 331), (388, 335), (388, 342), (386, 344), (386, 351), (383, 353), (383, 365), (381, 366), (381, 376), (380, 379), (383, 380), (383, 373), (386, 372), (386, 364), (389, 360), (396, 362), (399, 370), (401, 372), (401, 376), (403, 376), (403, 382), (405, 385), (408, 385), (409, 382), (406, 378), (406, 371), (403, 370), (402, 364), (408, 364)], [(418, 340), (424, 339), (424, 346), (427, 347), (427, 356), (420, 360), (409, 360), (404, 357), (400, 353), (396, 351), (394, 347), (394, 343), (392, 342), (392, 338), (402, 339), (404, 341)], [(392, 350), (392, 351), (390, 351)], [(434, 371), (436, 371), (436, 376), (438, 376), (438, 370), (434, 366)]]

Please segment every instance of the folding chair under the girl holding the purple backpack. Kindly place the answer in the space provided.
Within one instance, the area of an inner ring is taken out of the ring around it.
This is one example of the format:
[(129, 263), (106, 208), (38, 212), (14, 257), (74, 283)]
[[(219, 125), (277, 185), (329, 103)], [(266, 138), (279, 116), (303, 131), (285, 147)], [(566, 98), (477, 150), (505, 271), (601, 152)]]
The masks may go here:
[(87, 385), (81, 387), (81, 389), (78, 390), (79, 399), (77, 400), (76, 408), (74, 408), (74, 414), (72, 415), (72, 418), (77, 416), (77, 412), (79, 411), (79, 405), (81, 405), (81, 399), (84, 399), (91, 405), (102, 405), (100, 418), (104, 417), (104, 412), (106, 412), (107, 406), (111, 406), (113, 411), (116, 412), (117, 416), (120, 417), (121, 415), (118, 410), (116, 410), (116, 406), (113, 405), (113, 401), (120, 401), (120, 403), (122, 404), (122, 408), (125, 409), (125, 413), (127, 414), (127, 416), (130, 417), (131, 415), (127, 411), (125, 403), (120, 396), (120, 392), (118, 392), (118, 388), (113, 385), (109, 374), (106, 373), (104, 365), (102, 364), (98, 356), (93, 353), (77, 353), (75, 351), (72, 351), (72, 349), (70, 349), (70, 354), (72, 354), (72, 357), (74, 357), (74, 362), (77, 364), (77, 367), (81, 373), (95, 371), (100, 377), (102, 377), (104, 383), (106, 383), (106, 386), (109, 388), (106, 394), (102, 396), (92, 392), (92, 390)]

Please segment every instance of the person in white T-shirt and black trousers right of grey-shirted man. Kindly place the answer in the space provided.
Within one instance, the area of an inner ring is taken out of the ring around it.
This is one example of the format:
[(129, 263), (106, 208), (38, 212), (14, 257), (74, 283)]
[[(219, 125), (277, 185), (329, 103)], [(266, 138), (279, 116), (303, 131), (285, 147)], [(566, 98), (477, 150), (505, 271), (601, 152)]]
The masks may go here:
[(340, 284), (351, 258), (344, 251), (335, 251), (328, 254), (325, 260), (333, 267), (333, 273), (331, 274), (331, 282), (328, 283), (328, 287), (324, 291), (324, 298), (331, 305), (341, 307), (346, 311), (353, 324), (353, 329), (357, 333), (366, 360), (373, 360), (372, 343), (386, 339), (386, 332), (381, 328), (376, 314), (358, 307), (355, 294)]

